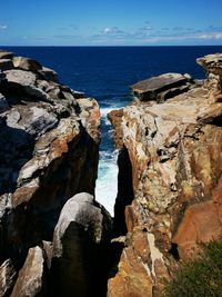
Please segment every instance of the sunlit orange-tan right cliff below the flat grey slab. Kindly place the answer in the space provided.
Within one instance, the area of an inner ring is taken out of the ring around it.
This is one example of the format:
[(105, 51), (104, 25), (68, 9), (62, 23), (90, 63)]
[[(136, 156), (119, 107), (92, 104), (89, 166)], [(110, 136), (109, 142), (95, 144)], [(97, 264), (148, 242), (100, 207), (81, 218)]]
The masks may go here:
[(134, 198), (125, 207), (127, 246), (108, 296), (160, 296), (178, 258), (222, 235), (222, 103), (209, 86), (208, 79), (162, 105), (123, 109)]

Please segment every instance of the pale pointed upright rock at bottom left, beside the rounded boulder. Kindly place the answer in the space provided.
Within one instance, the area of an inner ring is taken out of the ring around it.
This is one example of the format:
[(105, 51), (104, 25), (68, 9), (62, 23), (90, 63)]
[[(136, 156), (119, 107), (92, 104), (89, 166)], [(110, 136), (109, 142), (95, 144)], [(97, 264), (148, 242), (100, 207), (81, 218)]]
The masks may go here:
[(46, 265), (43, 251), (40, 247), (29, 249), (26, 263), (19, 271), (11, 294), (11, 297), (23, 296), (47, 296)]

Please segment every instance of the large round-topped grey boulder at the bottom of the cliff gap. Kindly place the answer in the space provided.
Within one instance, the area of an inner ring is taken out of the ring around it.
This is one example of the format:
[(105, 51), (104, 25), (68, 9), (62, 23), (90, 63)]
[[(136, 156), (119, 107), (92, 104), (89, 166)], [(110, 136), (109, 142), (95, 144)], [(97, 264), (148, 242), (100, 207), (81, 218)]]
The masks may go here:
[(103, 296), (102, 255), (110, 230), (111, 218), (93, 196), (83, 192), (68, 200), (53, 236), (53, 296)]

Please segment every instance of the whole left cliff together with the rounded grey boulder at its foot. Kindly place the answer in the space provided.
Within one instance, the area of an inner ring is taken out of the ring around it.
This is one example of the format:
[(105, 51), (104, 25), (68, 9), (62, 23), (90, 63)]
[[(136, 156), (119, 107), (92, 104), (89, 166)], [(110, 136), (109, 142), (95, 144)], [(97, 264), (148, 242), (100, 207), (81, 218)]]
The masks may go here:
[[(77, 284), (79, 296), (89, 296), (97, 291), (90, 278), (104, 278), (111, 218), (93, 198), (99, 125), (93, 98), (38, 61), (0, 51), (0, 296), (62, 296), (69, 281), (63, 296)], [(80, 270), (63, 284), (70, 259)]]

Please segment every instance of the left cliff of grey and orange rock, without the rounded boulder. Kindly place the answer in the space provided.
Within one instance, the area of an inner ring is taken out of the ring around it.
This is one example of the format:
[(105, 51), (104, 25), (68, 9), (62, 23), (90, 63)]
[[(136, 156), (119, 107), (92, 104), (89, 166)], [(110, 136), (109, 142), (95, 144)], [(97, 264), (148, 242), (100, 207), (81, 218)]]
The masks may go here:
[(11, 258), (20, 271), (12, 296), (49, 296), (43, 254), (50, 269), (60, 211), (73, 195), (94, 194), (99, 106), (32, 59), (0, 51), (0, 264)]

